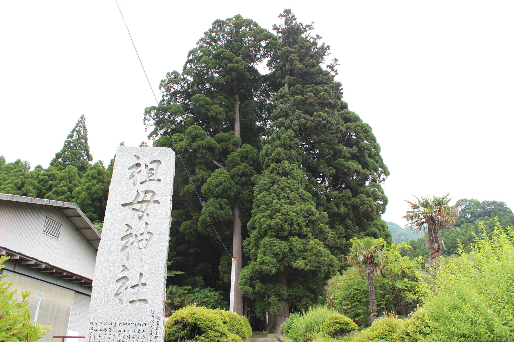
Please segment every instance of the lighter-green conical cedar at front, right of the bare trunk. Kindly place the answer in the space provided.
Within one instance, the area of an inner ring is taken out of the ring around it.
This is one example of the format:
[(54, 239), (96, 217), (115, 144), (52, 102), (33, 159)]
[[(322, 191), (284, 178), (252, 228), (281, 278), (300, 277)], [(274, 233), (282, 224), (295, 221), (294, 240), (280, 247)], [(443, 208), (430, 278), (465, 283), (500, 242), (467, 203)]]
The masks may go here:
[[(287, 90), (280, 90), (276, 111), (291, 106), (281, 92)], [(299, 310), (316, 303), (325, 280), (338, 269), (324, 243), (333, 238), (328, 217), (305, 191), (299, 145), (291, 130), (273, 130), (261, 152), (265, 169), (256, 176), (251, 233), (245, 240), (250, 261), (241, 273), (242, 291), (255, 300), (259, 315), (277, 314), (270, 326), (276, 332), (289, 317), (290, 305)]]

